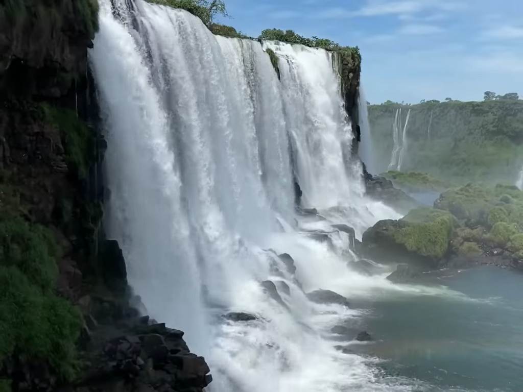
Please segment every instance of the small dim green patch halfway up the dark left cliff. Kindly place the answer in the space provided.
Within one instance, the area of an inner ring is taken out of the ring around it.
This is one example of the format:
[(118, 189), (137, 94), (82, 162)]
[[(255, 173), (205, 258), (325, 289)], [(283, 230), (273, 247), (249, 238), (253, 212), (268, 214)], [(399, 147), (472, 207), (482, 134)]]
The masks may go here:
[(56, 126), (65, 142), (65, 162), (79, 179), (87, 177), (90, 162), (94, 159), (95, 145), (93, 133), (76, 113), (68, 109), (59, 109), (42, 105), (43, 120)]

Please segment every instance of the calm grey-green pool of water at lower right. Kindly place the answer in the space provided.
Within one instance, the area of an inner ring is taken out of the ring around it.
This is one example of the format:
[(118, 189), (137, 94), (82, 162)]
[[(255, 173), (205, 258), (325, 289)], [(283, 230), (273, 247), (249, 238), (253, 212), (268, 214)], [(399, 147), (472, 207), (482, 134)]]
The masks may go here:
[(448, 290), (360, 304), (376, 341), (358, 350), (383, 359), (384, 377), (428, 390), (523, 391), (523, 274), (481, 267), (431, 279)]

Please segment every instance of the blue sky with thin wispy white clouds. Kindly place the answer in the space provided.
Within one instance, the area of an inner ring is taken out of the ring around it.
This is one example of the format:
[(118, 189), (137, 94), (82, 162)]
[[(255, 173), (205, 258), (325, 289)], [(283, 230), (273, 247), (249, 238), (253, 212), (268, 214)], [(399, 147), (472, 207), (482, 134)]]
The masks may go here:
[(358, 45), (367, 100), (523, 96), (522, 0), (225, 0), (249, 36), (264, 28)]

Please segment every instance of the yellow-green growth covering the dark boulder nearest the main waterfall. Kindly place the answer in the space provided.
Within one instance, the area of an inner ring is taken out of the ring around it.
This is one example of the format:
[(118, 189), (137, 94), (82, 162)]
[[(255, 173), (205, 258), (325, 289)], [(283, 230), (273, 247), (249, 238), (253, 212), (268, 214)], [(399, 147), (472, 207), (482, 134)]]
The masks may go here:
[(408, 224), (392, 234), (398, 244), (422, 256), (440, 258), (449, 248), (453, 217), (446, 211), (418, 208), (401, 221)]

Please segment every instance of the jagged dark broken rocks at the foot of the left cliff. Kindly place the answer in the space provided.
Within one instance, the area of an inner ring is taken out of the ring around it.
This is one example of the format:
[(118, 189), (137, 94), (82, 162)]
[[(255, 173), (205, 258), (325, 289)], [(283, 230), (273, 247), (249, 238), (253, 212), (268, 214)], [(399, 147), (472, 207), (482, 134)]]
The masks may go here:
[(212, 381), (205, 359), (192, 354), (184, 332), (149, 316), (95, 329), (84, 352), (86, 371), (60, 392), (198, 392)]

